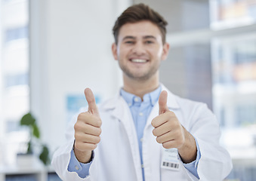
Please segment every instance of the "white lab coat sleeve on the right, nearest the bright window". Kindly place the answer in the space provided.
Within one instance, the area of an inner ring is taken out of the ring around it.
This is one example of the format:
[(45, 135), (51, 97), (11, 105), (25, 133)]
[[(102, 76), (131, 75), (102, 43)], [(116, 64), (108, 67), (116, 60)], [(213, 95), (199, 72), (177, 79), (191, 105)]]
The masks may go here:
[[(201, 104), (191, 119), (194, 121), (191, 121), (190, 133), (196, 137), (201, 153), (197, 168), (200, 180), (224, 180), (232, 169), (232, 161), (219, 143), (221, 131), (216, 117), (205, 104)], [(190, 173), (189, 176), (198, 180)]]

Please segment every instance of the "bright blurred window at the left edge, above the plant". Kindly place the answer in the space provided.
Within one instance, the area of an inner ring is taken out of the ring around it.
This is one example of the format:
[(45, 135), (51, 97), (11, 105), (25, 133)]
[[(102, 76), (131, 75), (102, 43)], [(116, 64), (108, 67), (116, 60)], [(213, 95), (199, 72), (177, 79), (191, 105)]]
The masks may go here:
[(0, 161), (4, 164), (15, 164), (20, 143), (27, 139), (19, 121), (29, 111), (28, 2), (0, 1)]

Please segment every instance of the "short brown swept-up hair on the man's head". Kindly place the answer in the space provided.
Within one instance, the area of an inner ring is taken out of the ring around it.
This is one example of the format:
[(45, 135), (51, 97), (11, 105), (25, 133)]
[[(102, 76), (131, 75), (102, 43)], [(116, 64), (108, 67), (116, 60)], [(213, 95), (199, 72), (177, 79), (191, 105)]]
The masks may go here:
[(115, 37), (116, 44), (118, 43), (119, 30), (124, 24), (137, 23), (142, 20), (150, 20), (150, 22), (159, 27), (160, 32), (162, 33), (162, 43), (165, 44), (165, 26), (168, 24), (167, 21), (158, 12), (143, 3), (132, 5), (127, 8), (116, 20), (113, 27), (113, 35)]

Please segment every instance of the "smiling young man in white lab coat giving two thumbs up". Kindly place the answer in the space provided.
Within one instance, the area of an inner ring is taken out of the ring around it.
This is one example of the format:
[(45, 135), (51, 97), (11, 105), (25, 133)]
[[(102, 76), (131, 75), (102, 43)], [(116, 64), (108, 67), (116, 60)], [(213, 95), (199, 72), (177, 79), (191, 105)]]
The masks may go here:
[(202, 103), (159, 83), (168, 56), (166, 21), (147, 5), (125, 10), (113, 27), (113, 57), (123, 72), (119, 94), (88, 109), (70, 127), (52, 164), (63, 180), (223, 180), (232, 164), (219, 145), (217, 120)]

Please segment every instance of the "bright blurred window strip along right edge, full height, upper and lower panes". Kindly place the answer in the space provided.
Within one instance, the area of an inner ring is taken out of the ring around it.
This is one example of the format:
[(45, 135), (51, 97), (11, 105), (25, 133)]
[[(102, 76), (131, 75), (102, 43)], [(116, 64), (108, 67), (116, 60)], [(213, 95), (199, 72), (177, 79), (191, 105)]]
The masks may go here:
[[(213, 110), (233, 158), (230, 179), (254, 180), (256, 164), (256, 1), (211, 1)], [(236, 31), (236, 29), (242, 29)], [(230, 33), (222, 35), (228, 30)]]

